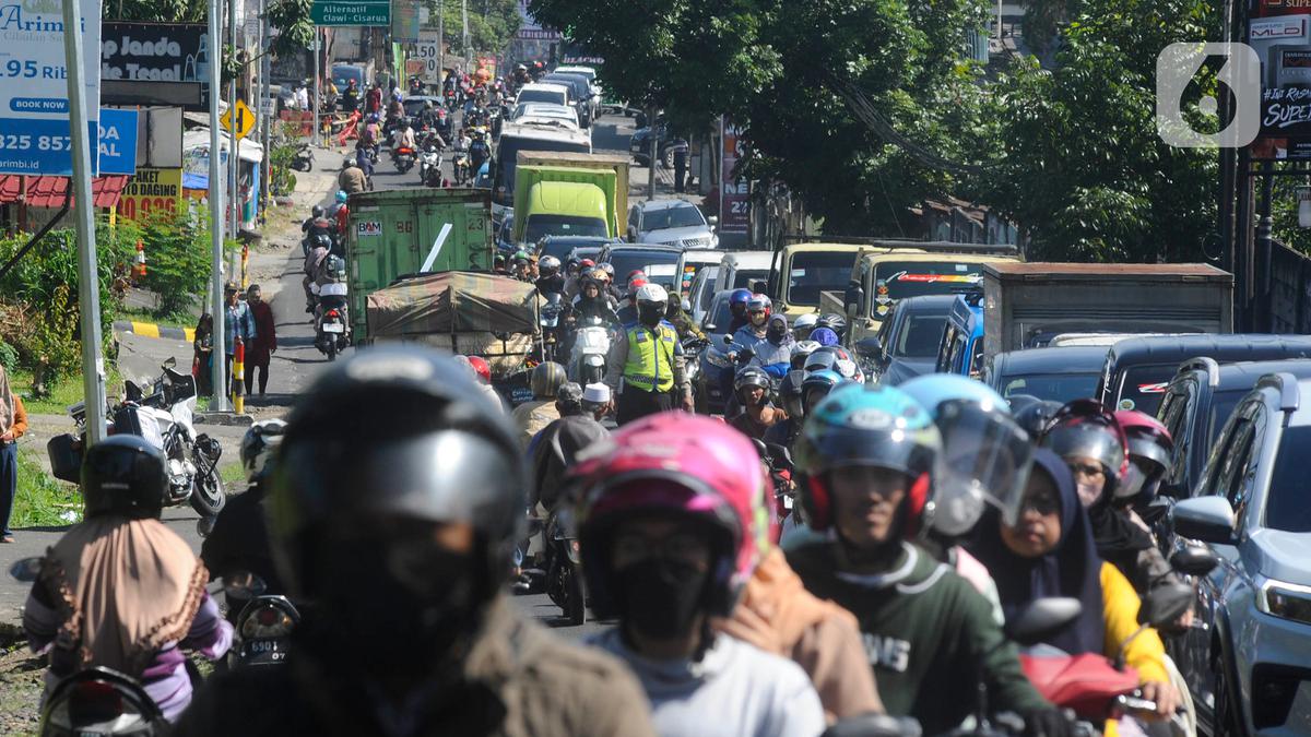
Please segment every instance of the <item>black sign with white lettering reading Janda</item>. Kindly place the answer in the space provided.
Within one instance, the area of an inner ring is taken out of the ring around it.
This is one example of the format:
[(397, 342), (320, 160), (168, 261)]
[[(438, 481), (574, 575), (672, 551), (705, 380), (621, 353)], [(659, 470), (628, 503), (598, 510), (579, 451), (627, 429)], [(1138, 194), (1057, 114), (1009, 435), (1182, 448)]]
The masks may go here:
[(100, 76), (207, 83), (208, 29), (198, 24), (106, 22), (100, 42)]

